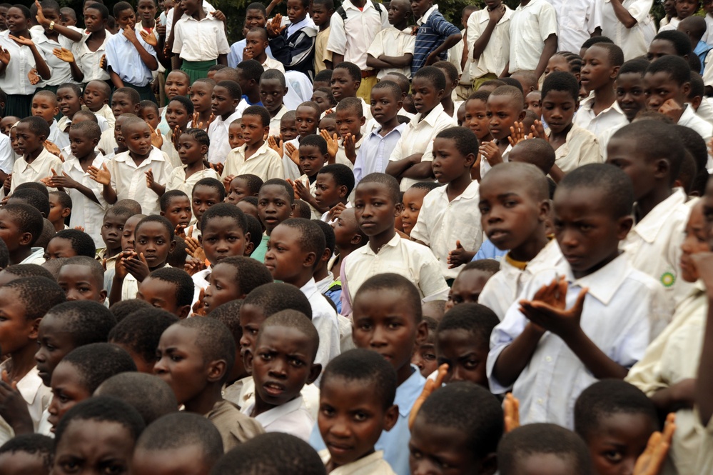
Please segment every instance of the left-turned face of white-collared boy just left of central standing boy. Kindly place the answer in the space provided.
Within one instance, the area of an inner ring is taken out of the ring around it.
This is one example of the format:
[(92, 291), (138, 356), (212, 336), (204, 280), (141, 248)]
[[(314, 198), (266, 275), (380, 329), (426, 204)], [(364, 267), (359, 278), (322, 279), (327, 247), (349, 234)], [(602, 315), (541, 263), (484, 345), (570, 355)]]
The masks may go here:
[(305, 269), (311, 270), (318, 256), (305, 251), (300, 244), (300, 236), (287, 226), (277, 226), (270, 234), (265, 266), (273, 274), (273, 279), (288, 284), (299, 281)]

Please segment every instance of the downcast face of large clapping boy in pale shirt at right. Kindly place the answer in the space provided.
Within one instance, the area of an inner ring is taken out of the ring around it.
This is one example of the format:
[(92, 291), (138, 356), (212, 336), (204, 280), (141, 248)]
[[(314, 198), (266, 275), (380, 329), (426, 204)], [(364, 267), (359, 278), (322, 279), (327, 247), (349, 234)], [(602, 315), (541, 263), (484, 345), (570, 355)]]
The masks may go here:
[(603, 191), (559, 189), (554, 206), (555, 237), (575, 278), (600, 269), (619, 255), (619, 241), (627, 236), (632, 219), (615, 219)]

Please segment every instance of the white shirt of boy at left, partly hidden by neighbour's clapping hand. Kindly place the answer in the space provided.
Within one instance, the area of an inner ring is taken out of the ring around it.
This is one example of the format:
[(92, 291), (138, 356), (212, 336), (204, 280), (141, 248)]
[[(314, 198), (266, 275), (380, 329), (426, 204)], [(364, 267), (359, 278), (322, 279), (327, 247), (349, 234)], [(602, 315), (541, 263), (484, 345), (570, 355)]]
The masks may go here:
[[(101, 170), (101, 166), (107, 162), (108, 160), (102, 154), (97, 154), (91, 165)], [(76, 226), (84, 226), (84, 232), (91, 236), (96, 248), (102, 248), (104, 241), (101, 239), (101, 226), (104, 222), (104, 213), (108, 207), (108, 203), (101, 194), (103, 186), (91, 179), (89, 173), (82, 169), (79, 160), (74, 155), (69, 156), (64, 161), (62, 171), (74, 181), (89, 188), (98, 201), (89, 199), (77, 189), (66, 188), (65, 191), (72, 199), (72, 214), (69, 217), (69, 227), (74, 229)], [(60, 173), (58, 170), (57, 174)]]

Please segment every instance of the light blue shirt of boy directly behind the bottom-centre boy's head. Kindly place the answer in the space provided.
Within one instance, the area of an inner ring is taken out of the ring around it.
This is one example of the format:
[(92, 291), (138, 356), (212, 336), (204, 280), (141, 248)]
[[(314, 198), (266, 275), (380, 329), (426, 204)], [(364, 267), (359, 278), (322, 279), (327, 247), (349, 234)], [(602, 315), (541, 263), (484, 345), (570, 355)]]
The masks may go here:
[[(416, 366), (411, 365), (411, 376), (396, 388), (394, 404), (398, 405), (398, 421), (393, 429), (382, 432), (379, 440), (374, 444), (375, 450), (384, 451), (384, 460), (397, 475), (410, 475), (408, 467), (408, 441), (411, 439), (411, 431), (408, 429), (408, 415), (411, 412), (413, 403), (423, 391), (426, 380), (421, 376)], [(315, 424), (310, 434), (310, 445), (316, 451), (324, 450), (327, 447), (319, 433), (319, 427)]]

